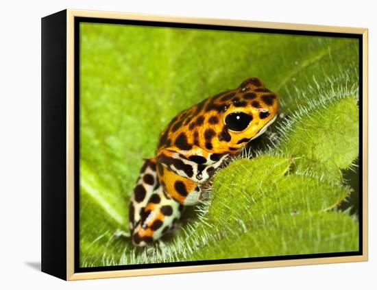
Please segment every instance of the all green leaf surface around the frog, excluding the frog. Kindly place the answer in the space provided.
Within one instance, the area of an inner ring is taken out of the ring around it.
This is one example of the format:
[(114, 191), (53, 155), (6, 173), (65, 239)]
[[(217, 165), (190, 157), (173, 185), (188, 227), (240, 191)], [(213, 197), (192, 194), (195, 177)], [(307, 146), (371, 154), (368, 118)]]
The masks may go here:
[[(82, 23), (80, 49), (80, 265), (358, 250), (337, 207), (354, 191), (358, 40)], [(114, 238), (169, 120), (252, 76), (288, 113), (274, 141), (219, 171), (165, 246)]]

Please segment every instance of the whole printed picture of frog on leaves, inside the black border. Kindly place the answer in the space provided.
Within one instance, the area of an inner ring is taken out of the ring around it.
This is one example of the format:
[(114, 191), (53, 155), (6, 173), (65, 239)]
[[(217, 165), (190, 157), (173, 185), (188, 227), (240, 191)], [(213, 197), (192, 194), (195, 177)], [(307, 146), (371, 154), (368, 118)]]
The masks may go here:
[(358, 252), (358, 38), (79, 28), (80, 267)]

